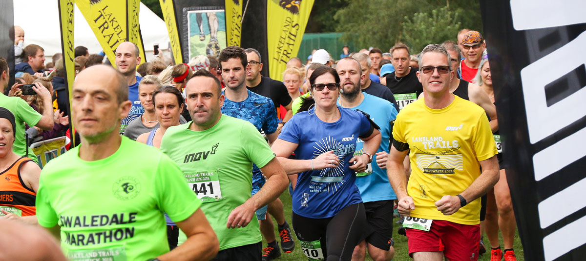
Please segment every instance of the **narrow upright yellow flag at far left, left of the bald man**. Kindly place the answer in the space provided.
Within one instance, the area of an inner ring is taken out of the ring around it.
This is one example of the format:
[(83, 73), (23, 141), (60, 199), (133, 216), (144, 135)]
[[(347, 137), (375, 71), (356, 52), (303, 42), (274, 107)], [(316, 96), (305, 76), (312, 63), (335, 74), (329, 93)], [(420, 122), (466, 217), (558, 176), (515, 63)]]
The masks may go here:
[[(67, 83), (67, 90), (69, 90), (69, 126), (71, 133), (71, 140), (75, 140), (73, 135), (73, 118), (71, 118), (71, 89), (73, 88), (73, 81), (75, 80), (75, 57), (74, 42), (73, 42), (73, 0), (59, 0), (59, 22), (61, 28), (61, 49), (63, 52), (63, 68), (65, 69), (65, 81)], [(68, 108), (59, 108), (64, 111)], [(75, 142), (71, 143), (73, 146)], [(71, 147), (73, 147), (71, 146)]]

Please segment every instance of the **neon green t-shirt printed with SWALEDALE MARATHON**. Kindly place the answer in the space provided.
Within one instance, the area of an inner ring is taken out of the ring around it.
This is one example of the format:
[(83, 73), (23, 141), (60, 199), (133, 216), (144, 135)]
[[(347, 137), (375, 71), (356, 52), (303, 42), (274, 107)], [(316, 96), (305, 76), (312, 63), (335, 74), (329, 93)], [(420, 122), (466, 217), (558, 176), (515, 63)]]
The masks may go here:
[(78, 146), (47, 163), (36, 215), (61, 226), (70, 260), (147, 260), (169, 252), (163, 212), (183, 221), (201, 204), (168, 156), (122, 136), (105, 159), (81, 160)]

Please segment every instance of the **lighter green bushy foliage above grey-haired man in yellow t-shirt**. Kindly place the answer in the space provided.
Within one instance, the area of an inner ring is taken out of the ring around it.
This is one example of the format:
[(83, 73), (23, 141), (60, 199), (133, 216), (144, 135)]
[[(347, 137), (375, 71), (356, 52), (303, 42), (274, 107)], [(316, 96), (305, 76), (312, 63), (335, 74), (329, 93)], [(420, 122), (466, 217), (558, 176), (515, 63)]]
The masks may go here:
[(427, 44), (442, 43), (458, 35), (462, 24), (458, 15), (458, 11), (444, 6), (429, 13), (414, 13), (412, 18), (405, 16), (401, 38), (412, 53), (419, 53)]

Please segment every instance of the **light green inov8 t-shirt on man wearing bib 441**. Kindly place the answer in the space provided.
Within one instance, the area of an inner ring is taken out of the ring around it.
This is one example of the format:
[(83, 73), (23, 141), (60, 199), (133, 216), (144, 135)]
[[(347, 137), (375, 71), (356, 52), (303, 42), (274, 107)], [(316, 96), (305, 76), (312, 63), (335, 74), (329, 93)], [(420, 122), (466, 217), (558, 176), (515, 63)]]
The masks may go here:
[(261, 241), (256, 216), (244, 228), (226, 228), (234, 208), (250, 198), (253, 162), (264, 167), (275, 156), (248, 121), (222, 115), (212, 128), (189, 129), (192, 122), (165, 132), (161, 150), (183, 171), (189, 188), (216, 232), (220, 250)]

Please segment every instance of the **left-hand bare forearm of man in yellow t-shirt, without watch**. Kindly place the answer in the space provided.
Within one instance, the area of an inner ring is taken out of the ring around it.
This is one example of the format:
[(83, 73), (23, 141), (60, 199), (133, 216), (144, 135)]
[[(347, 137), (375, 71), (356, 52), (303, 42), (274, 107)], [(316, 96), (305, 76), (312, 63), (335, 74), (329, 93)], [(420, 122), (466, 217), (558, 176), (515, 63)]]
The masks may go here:
[(389, 160), (387, 160), (387, 176), (389, 176), (391, 187), (397, 194), (397, 210), (404, 216), (410, 215), (411, 210), (415, 209), (413, 198), (407, 194), (407, 174), (403, 165), (403, 160), (408, 152), (408, 149), (399, 151), (393, 145), (389, 152)]

